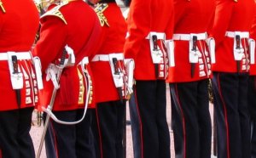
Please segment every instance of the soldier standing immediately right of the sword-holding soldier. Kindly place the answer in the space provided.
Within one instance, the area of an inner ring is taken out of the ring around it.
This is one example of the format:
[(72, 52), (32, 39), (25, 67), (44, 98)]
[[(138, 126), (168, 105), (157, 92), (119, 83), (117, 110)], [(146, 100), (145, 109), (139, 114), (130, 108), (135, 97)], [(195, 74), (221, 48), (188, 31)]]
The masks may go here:
[[(102, 42), (90, 66), (95, 78), (98, 151), (96, 157), (123, 157), (123, 126), (126, 81), (123, 48), (126, 24), (115, 0), (97, 3), (95, 11), (102, 24)], [(94, 132), (96, 133), (96, 132)], [(96, 148), (97, 149), (97, 148)]]

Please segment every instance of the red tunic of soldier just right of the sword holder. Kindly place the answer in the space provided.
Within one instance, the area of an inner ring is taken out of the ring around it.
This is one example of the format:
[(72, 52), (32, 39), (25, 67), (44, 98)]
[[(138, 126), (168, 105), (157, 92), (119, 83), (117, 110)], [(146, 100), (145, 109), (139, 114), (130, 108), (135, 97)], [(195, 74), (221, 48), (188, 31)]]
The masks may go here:
[[(96, 54), (123, 54), (126, 24), (119, 6), (116, 3), (108, 3), (102, 13), (108, 25), (102, 26), (102, 44)], [(118, 100), (119, 93), (113, 82), (109, 61), (90, 62), (90, 66), (95, 79), (96, 102)]]

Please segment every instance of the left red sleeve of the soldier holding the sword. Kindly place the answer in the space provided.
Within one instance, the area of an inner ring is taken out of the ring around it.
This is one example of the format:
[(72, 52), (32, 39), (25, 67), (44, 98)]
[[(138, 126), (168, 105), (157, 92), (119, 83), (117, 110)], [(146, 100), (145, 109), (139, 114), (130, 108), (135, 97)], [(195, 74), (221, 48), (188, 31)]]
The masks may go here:
[(54, 16), (44, 18), (42, 21), (40, 39), (32, 53), (41, 59), (42, 71), (62, 52), (63, 43), (67, 37), (66, 26), (63, 21)]

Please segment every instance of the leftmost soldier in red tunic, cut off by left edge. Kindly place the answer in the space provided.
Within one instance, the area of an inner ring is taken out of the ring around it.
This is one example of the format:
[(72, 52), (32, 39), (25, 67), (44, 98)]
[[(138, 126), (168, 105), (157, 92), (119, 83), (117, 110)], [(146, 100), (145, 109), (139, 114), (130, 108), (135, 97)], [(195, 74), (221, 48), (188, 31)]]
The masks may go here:
[[(26, 8), (26, 9), (25, 9)], [(38, 84), (30, 50), (39, 25), (32, 0), (0, 1), (0, 157), (35, 157), (29, 134)]]

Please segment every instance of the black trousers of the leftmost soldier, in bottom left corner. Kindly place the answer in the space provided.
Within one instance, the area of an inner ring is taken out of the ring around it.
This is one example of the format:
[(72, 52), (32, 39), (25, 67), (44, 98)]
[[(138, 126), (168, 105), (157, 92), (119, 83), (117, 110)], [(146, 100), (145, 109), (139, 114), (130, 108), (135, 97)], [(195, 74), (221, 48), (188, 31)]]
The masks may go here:
[(29, 134), (33, 108), (0, 111), (0, 157), (34, 158)]

